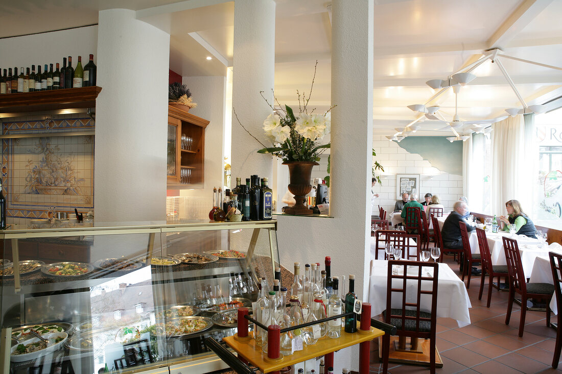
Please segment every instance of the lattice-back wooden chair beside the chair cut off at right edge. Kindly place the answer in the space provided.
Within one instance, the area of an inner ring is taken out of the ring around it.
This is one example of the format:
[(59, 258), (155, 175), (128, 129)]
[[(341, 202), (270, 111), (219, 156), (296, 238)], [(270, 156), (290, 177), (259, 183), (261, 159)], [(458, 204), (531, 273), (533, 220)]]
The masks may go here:
[(519, 321), (519, 337), (523, 336), (523, 327), (525, 327), (525, 313), (527, 313), (527, 299), (542, 300), (546, 303), (546, 326), (550, 326), (550, 300), (554, 293), (554, 285), (548, 283), (527, 283), (527, 279), (523, 274), (523, 266), (521, 264), (521, 254), (517, 241), (511, 238), (502, 238), (504, 240), (505, 259), (507, 261), (507, 273), (509, 273), (509, 302), (507, 304), (507, 314), (505, 316), (505, 324), (509, 325), (511, 317), (511, 309), (513, 308), (513, 300), (515, 293), (521, 295), (521, 320)]

